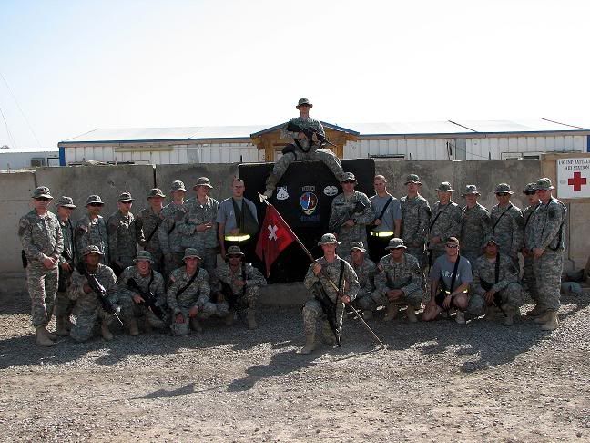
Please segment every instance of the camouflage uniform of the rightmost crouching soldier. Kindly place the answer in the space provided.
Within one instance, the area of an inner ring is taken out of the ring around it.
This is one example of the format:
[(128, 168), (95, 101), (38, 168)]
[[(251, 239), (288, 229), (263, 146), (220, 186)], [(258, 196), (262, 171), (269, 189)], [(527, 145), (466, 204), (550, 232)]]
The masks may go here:
[(473, 263), (473, 283), (469, 291), (469, 306), (467, 312), (473, 315), (485, 313), (485, 299), (483, 294), (487, 291), (482, 286), (482, 281), (492, 284), (492, 289), (500, 295), (504, 312), (516, 312), (523, 304), (522, 288), (518, 283), (518, 270), (513, 261), (504, 253), (499, 253), (496, 260), (500, 260), (498, 283), (495, 283), (495, 260), (490, 262), (485, 255), (479, 257)]

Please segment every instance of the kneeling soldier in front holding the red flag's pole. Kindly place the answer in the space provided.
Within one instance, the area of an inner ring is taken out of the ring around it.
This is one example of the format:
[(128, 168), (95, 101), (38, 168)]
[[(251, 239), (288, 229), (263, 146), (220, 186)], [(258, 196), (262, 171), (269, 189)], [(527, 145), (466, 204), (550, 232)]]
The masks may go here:
[[(340, 334), (342, 328), (342, 314), (344, 314), (344, 304), (351, 303), (359, 292), (359, 280), (356, 273), (349, 263), (342, 260), (336, 254), (336, 247), (340, 244), (336, 236), (331, 233), (323, 234), (318, 243), (324, 252), (323, 257), (310, 264), (303, 284), (314, 295), (314, 298), (308, 300), (303, 306), (303, 329), (305, 331), (305, 345), (301, 349), (301, 354), (310, 354), (315, 349), (316, 322), (318, 319), (323, 320), (322, 335), (329, 345), (335, 345), (336, 339), (331, 325), (327, 320), (327, 315), (318, 300), (318, 289), (315, 287), (319, 284), (325, 294), (330, 299), (330, 306), (326, 309), (335, 310), (335, 327)], [(334, 289), (334, 283), (341, 291)]]

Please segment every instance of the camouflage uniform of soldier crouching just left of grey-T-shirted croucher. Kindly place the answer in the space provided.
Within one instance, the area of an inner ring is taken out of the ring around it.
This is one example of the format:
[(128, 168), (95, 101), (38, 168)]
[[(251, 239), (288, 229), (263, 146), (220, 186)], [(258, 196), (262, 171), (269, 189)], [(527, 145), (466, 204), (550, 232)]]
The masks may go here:
[(422, 305), (422, 267), (418, 259), (413, 255), (405, 252), (402, 262), (396, 263), (391, 254), (385, 255), (377, 269), (379, 273), (375, 275), (375, 286), (377, 287), (372, 293), (372, 305), (367, 309), (377, 309), (379, 306), (389, 304), (387, 291), (390, 289), (401, 289), (403, 296), (399, 304), (408, 304), (414, 309), (420, 309)]

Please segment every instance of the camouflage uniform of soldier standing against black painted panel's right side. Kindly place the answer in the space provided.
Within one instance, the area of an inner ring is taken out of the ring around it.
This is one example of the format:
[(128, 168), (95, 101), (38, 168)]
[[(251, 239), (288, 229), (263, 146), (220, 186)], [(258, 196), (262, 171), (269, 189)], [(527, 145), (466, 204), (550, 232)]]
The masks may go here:
[(330, 225), (341, 219), (343, 214), (351, 211), (357, 201), (363, 202), (365, 209), (361, 213), (351, 215), (350, 219), (356, 221), (354, 226), (341, 226), (338, 232), (338, 240), (341, 244), (338, 245), (336, 252), (342, 256), (351, 251), (351, 242), (367, 244), (367, 225), (375, 220), (375, 214), (371, 209), (369, 197), (359, 191), (354, 191), (350, 197), (345, 196), (344, 193), (338, 194), (331, 202)]

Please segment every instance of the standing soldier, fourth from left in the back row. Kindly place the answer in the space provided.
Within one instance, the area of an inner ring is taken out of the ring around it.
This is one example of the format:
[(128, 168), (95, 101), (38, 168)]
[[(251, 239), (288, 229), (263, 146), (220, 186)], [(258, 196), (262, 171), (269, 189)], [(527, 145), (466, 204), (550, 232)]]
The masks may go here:
[(135, 217), (131, 213), (133, 201), (129, 192), (121, 192), (117, 201), (118, 209), (107, 220), (108, 251), (111, 268), (117, 277), (125, 268), (133, 266), (137, 243), (145, 242), (143, 232), (137, 229)]

